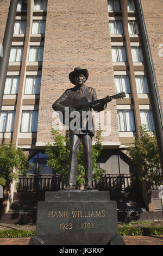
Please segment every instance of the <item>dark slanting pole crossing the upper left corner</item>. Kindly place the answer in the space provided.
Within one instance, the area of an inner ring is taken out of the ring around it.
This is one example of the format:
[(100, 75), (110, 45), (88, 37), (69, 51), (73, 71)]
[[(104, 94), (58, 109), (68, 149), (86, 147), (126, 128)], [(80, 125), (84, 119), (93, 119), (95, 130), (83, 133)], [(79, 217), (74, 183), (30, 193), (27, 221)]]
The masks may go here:
[(5, 80), (8, 72), (17, 3), (18, 3), (18, 0), (10, 1), (8, 19), (5, 27), (4, 38), (3, 38), (3, 57), (0, 57), (0, 113), (2, 109)]

